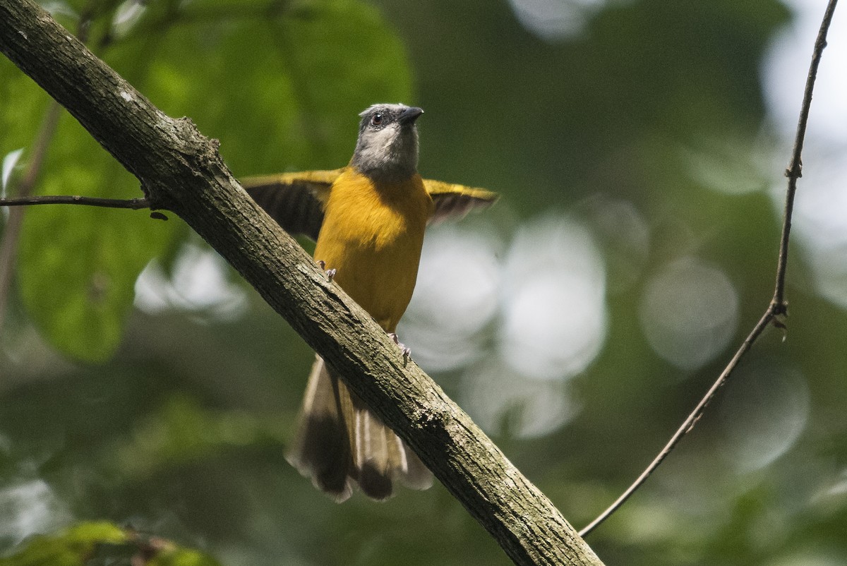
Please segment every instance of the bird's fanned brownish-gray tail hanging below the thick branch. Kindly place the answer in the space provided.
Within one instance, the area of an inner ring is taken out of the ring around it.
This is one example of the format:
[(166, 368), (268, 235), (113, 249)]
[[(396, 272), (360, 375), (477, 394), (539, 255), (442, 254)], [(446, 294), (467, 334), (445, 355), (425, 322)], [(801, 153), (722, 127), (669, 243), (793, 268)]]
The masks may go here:
[(296, 440), (288, 461), (337, 502), (355, 481), (368, 497), (384, 500), (394, 482), (432, 486), (432, 474), (406, 443), (371, 413), (318, 356), (309, 375)]

